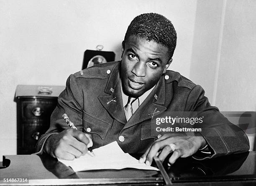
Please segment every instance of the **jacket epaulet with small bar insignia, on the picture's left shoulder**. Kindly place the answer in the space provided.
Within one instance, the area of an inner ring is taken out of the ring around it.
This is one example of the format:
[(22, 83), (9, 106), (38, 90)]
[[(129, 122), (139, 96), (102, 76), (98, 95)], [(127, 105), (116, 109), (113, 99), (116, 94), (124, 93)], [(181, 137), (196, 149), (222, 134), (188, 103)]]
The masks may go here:
[(114, 66), (119, 63), (119, 61), (101, 63), (99, 65), (94, 65), (90, 68), (85, 68), (77, 73), (74, 73), (76, 78), (108, 78)]

